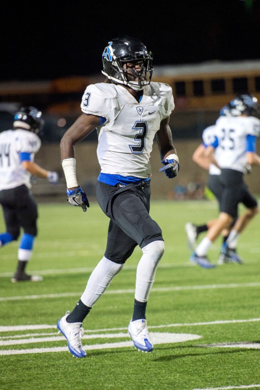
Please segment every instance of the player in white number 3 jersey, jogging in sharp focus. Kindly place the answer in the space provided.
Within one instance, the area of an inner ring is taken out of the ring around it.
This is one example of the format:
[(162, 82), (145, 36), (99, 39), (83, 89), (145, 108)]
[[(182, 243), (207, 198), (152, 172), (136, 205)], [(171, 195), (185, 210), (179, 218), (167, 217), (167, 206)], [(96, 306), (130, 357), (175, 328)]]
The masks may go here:
[(167, 177), (177, 176), (179, 159), (168, 125), (174, 108), (172, 89), (151, 82), (152, 53), (138, 39), (112, 39), (103, 52), (104, 83), (89, 85), (83, 95), (83, 114), (61, 140), (61, 158), (72, 206), (87, 210), (86, 194), (75, 174), (73, 145), (97, 128), (97, 157), (101, 172), (97, 200), (110, 218), (104, 257), (90, 275), (73, 312), (57, 322), (69, 351), (85, 357), (82, 322), (139, 245), (143, 255), (136, 271), (134, 311), (128, 326), (134, 346), (151, 352), (145, 310), (156, 268), (164, 252), (159, 225), (149, 215), (150, 152), (156, 137)]

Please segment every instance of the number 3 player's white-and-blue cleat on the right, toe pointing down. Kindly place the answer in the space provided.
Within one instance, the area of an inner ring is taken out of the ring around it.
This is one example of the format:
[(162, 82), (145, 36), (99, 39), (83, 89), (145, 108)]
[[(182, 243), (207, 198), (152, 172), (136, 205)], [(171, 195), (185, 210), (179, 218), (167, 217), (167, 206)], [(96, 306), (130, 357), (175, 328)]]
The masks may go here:
[(128, 333), (132, 337), (134, 346), (142, 352), (152, 352), (154, 346), (150, 340), (146, 319), (130, 321)]

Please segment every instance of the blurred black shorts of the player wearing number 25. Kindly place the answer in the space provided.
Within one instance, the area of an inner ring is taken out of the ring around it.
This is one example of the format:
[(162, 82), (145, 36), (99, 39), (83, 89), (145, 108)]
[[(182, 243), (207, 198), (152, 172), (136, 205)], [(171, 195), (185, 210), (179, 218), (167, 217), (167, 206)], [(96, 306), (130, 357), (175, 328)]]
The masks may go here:
[(220, 211), (235, 218), (239, 203), (243, 203), (249, 209), (257, 207), (256, 199), (249, 192), (247, 185), (243, 181), (242, 172), (234, 169), (222, 169), (219, 180), (223, 185)]

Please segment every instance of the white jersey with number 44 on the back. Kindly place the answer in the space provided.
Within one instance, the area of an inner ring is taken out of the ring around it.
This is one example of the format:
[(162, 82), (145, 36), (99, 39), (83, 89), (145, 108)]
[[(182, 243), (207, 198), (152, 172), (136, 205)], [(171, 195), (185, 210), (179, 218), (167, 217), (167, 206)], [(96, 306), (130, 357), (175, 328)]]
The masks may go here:
[(22, 167), (20, 153), (30, 153), (31, 161), (40, 149), (40, 138), (30, 131), (17, 129), (0, 133), (0, 190), (25, 184), (31, 187), (31, 174)]

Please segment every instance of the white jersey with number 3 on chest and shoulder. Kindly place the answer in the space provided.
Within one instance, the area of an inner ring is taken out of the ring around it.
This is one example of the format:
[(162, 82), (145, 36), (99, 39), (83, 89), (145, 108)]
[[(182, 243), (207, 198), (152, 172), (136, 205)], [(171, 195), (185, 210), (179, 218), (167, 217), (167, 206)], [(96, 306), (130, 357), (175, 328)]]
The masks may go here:
[(145, 86), (140, 103), (122, 85), (88, 85), (82, 97), (82, 112), (106, 118), (97, 126), (101, 172), (149, 177), (154, 136), (173, 108), (168, 84), (152, 82)]

